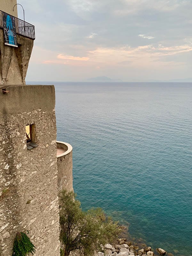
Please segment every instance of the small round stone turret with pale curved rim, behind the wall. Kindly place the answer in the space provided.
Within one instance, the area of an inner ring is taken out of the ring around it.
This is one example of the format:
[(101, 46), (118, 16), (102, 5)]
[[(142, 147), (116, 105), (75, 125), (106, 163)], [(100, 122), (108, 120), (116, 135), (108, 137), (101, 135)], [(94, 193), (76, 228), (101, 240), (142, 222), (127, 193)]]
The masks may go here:
[(72, 146), (57, 141), (58, 190), (73, 191), (73, 159)]

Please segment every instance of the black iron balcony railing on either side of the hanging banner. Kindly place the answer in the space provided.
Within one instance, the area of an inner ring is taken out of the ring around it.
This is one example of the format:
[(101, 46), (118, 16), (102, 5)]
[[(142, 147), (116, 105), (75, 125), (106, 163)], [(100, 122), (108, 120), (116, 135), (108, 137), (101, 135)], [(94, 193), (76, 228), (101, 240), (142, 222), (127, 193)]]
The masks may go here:
[[(3, 11), (0, 11), (0, 28), (3, 28)], [(20, 20), (15, 17), (16, 33), (22, 36), (26, 36), (31, 39), (35, 39), (35, 26), (30, 23)]]

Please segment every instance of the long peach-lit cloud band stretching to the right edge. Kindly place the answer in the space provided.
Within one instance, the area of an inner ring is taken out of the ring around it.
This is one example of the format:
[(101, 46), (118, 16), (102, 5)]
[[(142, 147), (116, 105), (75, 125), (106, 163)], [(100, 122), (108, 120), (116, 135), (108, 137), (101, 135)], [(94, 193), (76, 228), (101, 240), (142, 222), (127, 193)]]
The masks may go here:
[[(148, 44), (138, 47), (120, 47), (120, 48), (97, 48), (90, 51), (88, 56), (90, 61), (105, 63), (111, 65), (133, 65), (135, 67), (151, 66), (154, 61), (158, 62), (160, 58), (184, 54), (192, 51), (192, 45), (163, 46)], [(161, 60), (163, 63), (163, 59)], [(172, 61), (173, 63), (174, 61)]]

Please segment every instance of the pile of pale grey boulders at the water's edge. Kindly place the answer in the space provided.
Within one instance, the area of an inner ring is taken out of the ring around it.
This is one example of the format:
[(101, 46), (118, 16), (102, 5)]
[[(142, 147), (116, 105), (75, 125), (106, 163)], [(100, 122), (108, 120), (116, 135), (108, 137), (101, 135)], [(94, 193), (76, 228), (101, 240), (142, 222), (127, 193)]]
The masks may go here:
[(98, 252), (98, 256), (173, 256), (161, 248), (157, 248), (156, 252), (146, 244), (137, 244), (127, 241), (126, 238), (117, 239), (115, 244), (105, 244), (103, 252)]

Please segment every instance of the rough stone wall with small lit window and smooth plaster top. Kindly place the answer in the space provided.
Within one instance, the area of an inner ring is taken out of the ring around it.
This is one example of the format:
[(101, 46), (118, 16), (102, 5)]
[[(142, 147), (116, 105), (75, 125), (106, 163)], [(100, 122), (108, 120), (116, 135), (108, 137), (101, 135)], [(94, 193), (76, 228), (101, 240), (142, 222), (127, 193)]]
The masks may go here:
[[(59, 256), (54, 86), (0, 90), (0, 255), (11, 256), (17, 231), (28, 230), (36, 256)], [(27, 149), (25, 125), (36, 125)]]

